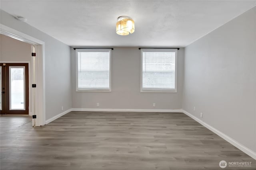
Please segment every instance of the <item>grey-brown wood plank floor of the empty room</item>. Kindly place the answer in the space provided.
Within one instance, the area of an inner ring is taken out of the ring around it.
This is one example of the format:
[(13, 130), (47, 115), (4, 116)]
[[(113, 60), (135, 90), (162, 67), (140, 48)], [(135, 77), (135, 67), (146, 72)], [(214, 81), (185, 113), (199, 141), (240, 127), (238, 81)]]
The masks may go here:
[(1, 170), (218, 170), (256, 160), (183, 113), (70, 112), (44, 127), (1, 116)]

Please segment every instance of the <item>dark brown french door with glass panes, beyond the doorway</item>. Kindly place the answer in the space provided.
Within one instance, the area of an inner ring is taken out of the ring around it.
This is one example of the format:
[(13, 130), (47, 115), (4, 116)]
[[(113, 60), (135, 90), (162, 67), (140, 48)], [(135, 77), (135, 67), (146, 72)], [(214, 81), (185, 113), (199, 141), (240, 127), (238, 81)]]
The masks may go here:
[(0, 114), (28, 115), (28, 63), (0, 63)]

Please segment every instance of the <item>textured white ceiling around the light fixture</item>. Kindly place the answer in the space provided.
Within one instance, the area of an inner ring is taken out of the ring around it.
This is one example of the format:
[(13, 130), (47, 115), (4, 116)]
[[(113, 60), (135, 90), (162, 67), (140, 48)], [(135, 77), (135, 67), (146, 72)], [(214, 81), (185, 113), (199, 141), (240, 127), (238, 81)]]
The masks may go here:
[[(256, 1), (13, 1), (1, 9), (70, 46), (184, 47), (256, 5)], [(119, 16), (135, 32), (116, 34)]]

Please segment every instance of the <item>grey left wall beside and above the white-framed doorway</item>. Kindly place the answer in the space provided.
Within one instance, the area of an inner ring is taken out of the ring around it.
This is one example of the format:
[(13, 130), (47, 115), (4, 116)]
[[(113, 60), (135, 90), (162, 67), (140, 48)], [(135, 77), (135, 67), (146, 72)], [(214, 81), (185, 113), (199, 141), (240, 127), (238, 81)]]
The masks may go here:
[[(1, 10), (1, 24), (45, 42), (46, 120), (71, 108), (70, 47)], [(64, 110), (61, 110), (64, 106)]]

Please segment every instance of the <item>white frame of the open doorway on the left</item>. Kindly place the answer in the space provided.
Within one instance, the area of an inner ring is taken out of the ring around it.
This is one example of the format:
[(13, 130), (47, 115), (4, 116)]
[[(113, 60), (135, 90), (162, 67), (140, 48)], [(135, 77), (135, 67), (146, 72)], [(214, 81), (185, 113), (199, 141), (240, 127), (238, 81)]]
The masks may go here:
[[(36, 88), (34, 93), (36, 97), (35, 97), (35, 100), (31, 101), (32, 107), (29, 107), (29, 108), (30, 109), (33, 107), (35, 108), (34, 109), (35, 113), (32, 113), (33, 115), (36, 115), (35, 124), (33, 125), (43, 126), (45, 125), (45, 110), (46, 110), (45, 108), (45, 65), (44, 65), (45, 43), (44, 41), (31, 37), (30, 35), (17, 31), (16, 29), (7, 27), (6, 25), (3, 25), (3, 24), (0, 24), (0, 33), (8, 37), (12, 37), (14, 39), (24, 41), (31, 45), (35, 45)], [(13, 63), (16, 63), (16, 62), (13, 62)], [(33, 67), (32, 64), (31, 64), (31, 67)], [(32, 83), (30, 83), (30, 85), (31, 84)], [(33, 109), (30, 110), (30, 112), (31, 111), (34, 112), (34, 110)]]

